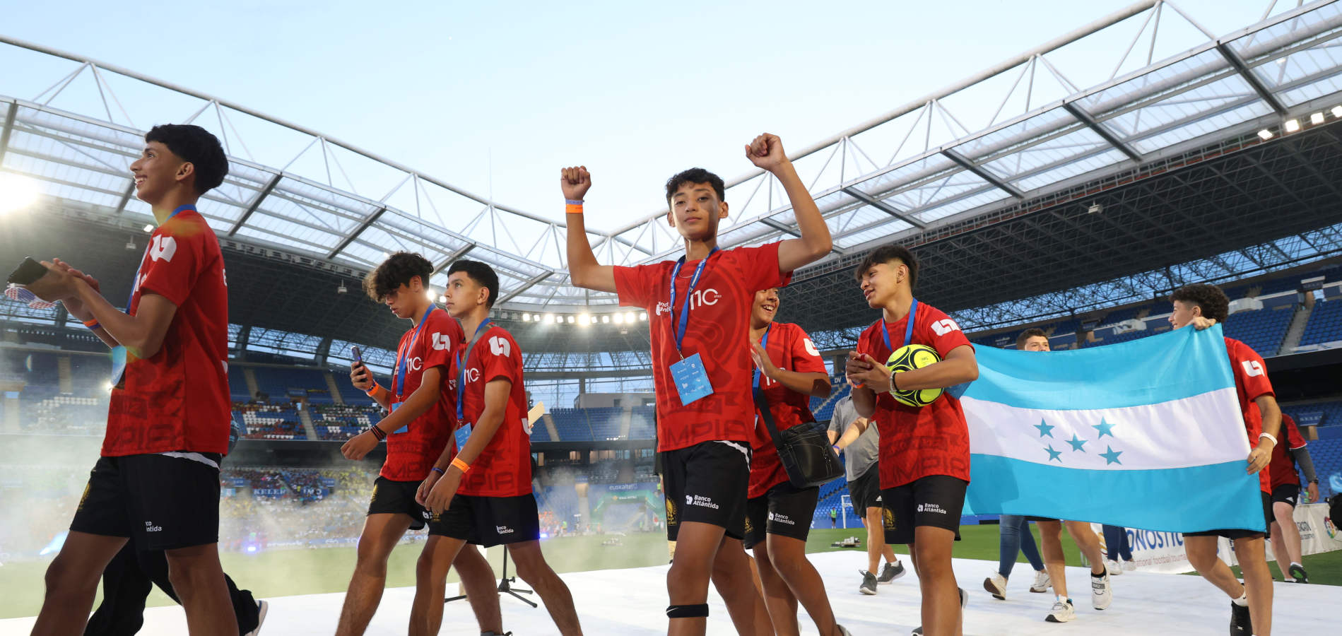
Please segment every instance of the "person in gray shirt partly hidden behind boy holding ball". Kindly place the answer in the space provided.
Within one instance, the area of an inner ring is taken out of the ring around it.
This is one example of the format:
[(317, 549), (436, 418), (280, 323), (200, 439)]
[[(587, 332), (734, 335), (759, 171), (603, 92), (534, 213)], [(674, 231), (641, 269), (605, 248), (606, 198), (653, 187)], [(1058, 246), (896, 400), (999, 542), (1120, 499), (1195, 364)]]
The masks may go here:
[[(880, 456), (880, 437), (876, 433), (876, 427), (868, 425), (866, 417), (858, 417), (851, 394), (835, 404), (833, 415), (829, 419), (829, 443), (835, 444), (836, 451), (844, 454), (852, 509), (862, 511), (863, 523), (867, 526), (867, 569), (859, 570), (862, 572), (862, 585), (858, 592), (875, 594), (876, 584), (888, 584), (902, 577), (905, 565), (886, 543), (880, 506), (880, 471), (876, 470)], [(886, 566), (878, 577), (876, 566), (880, 565), (882, 555), (886, 557)]]

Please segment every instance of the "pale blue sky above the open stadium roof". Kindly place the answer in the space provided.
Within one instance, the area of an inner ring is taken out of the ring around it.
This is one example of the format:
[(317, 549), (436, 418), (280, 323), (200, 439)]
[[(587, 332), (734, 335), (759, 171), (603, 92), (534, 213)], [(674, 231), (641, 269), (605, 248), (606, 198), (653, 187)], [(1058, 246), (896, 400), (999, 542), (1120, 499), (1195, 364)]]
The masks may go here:
[[(679, 169), (747, 172), (741, 146), (760, 131), (807, 146), (1129, 3), (8, 4), (4, 35), (239, 102), (530, 212), (560, 217), (558, 168), (586, 164), (589, 227), (612, 228), (656, 211)], [(1270, 0), (1177, 4), (1223, 35)], [(1184, 46), (1157, 59), (1201, 42), (1178, 21), (1162, 30)], [(1107, 79), (1137, 27), (1055, 63), (1083, 87)], [(60, 76), (4, 62), (0, 94), (32, 98)]]

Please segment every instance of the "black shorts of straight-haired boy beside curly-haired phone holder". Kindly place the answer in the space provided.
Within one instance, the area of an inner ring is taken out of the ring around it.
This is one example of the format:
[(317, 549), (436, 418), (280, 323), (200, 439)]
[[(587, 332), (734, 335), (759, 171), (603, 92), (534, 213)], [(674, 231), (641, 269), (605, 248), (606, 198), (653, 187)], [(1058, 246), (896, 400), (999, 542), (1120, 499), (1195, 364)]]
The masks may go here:
[(428, 534), (490, 547), (541, 538), (535, 495), (456, 495), (447, 511), (429, 518)]

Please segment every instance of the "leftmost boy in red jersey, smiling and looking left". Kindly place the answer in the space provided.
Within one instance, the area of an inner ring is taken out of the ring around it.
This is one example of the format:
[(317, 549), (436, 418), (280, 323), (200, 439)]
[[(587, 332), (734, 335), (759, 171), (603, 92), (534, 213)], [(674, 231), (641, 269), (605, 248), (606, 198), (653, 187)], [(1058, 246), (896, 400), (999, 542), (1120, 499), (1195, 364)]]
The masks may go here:
[[(111, 348), (114, 378), (102, 458), (47, 569), (35, 635), (78, 635), (103, 568), (130, 537), (165, 550), (192, 635), (235, 636), (219, 565), (219, 460), (228, 452), (228, 288), (219, 240), (196, 212), (228, 174), (215, 136), (200, 126), (154, 126), (130, 165), (136, 195), (158, 227), (122, 313), (98, 280), (60, 260), (28, 288), (62, 301)], [(44, 263), (46, 264), (46, 263)]]

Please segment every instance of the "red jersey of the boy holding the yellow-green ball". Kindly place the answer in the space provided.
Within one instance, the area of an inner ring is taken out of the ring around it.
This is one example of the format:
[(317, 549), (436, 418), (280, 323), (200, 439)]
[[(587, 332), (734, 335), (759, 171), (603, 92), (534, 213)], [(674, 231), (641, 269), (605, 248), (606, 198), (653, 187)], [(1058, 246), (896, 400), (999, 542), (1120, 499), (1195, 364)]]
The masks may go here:
[[(909, 318), (880, 321), (858, 337), (858, 353), (884, 362), (894, 353), (880, 335), (890, 333), (895, 349), (903, 342)], [(939, 309), (918, 303), (910, 345), (927, 345), (942, 358), (957, 346), (973, 346), (960, 325)], [(960, 400), (943, 393), (931, 404), (917, 408), (895, 401), (888, 393), (876, 394), (876, 431), (880, 432), (880, 487), (894, 488), (929, 475), (949, 475), (969, 480), (969, 425)]]

